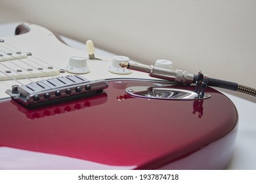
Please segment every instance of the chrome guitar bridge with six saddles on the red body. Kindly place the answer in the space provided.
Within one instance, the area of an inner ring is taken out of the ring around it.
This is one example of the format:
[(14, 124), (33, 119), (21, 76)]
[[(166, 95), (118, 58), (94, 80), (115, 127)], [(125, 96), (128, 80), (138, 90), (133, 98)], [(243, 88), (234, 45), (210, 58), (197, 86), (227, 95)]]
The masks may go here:
[(26, 106), (56, 103), (66, 99), (83, 97), (88, 94), (101, 93), (108, 88), (106, 80), (90, 81), (79, 75), (50, 78), (30, 84), (12, 86), (6, 92), (12, 99)]

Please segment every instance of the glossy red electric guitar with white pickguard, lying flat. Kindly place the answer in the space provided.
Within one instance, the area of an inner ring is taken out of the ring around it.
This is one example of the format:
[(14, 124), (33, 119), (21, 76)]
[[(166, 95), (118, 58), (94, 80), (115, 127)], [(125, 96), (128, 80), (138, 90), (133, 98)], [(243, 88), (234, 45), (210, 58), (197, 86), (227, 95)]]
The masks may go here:
[(16, 33), (0, 38), (0, 169), (223, 169), (232, 158), (238, 113), (217, 90), (198, 98), (38, 25)]

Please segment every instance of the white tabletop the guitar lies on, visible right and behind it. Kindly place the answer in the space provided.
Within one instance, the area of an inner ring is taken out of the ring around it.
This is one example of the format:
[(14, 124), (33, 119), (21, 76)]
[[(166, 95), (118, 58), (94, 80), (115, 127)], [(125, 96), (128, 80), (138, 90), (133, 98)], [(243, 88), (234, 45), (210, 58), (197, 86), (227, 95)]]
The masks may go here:
[[(0, 25), (0, 36), (10, 36), (17, 24)], [(74, 48), (85, 50), (85, 44), (63, 37)], [(114, 54), (95, 48), (95, 54), (113, 57)], [(255, 103), (226, 93), (238, 109), (240, 116), (238, 138), (232, 161), (226, 169), (256, 169), (256, 112)]]

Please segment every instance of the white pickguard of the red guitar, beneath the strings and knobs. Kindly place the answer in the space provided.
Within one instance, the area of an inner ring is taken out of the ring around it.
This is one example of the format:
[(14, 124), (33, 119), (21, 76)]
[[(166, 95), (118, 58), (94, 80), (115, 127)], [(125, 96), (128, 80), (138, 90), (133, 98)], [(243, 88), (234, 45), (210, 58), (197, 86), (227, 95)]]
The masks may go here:
[[(60, 69), (65, 69), (70, 56), (85, 56), (86, 50), (77, 50), (60, 42), (54, 34), (39, 25), (27, 24), (28, 33), (13, 37), (0, 37), (0, 100), (10, 98), (5, 93), (14, 84), (28, 84), (33, 81), (51, 78), (53, 76), (72, 75)], [(8, 52), (12, 54), (7, 54)], [(16, 54), (16, 52), (21, 52)], [(27, 56), (30, 52), (32, 56)], [(89, 80), (106, 78), (150, 78), (145, 73), (133, 72), (129, 75), (110, 73), (112, 58), (95, 53), (97, 59), (87, 59), (90, 72), (83, 74)], [(134, 62), (134, 61), (131, 61)]]

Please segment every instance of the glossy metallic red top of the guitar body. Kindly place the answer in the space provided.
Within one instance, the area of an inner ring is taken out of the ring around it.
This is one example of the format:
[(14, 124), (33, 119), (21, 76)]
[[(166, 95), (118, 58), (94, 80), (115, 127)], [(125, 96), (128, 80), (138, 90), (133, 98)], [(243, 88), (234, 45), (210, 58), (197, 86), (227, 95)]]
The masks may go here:
[[(129, 86), (154, 83), (112, 80), (104, 93), (37, 109), (16, 101), (2, 102), (0, 146), (104, 165), (156, 169), (197, 152), (236, 128), (236, 108), (213, 88), (206, 90), (211, 98), (195, 101), (143, 99), (125, 93)], [(194, 90), (192, 86), (177, 87)]]

